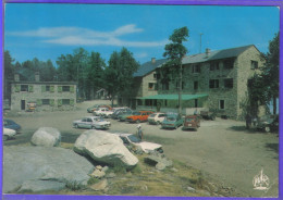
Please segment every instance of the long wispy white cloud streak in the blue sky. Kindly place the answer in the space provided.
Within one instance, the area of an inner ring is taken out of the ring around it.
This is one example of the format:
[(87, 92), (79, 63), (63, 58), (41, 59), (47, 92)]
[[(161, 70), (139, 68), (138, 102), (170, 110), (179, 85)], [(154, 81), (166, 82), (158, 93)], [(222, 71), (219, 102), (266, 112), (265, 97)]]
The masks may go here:
[(135, 24), (121, 26), (113, 32), (96, 32), (81, 27), (42, 27), (27, 32), (8, 32), (10, 36), (39, 37), (41, 41), (64, 46), (118, 46), (118, 47), (159, 47), (164, 46), (163, 41), (127, 41), (119, 39), (119, 36), (140, 33), (144, 29), (137, 28)]

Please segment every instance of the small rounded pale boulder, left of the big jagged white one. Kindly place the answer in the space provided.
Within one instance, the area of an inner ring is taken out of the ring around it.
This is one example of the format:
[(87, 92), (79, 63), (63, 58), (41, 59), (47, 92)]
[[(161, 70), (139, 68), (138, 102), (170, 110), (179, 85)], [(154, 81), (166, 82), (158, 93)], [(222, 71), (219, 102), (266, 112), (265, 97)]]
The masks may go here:
[(32, 143), (35, 146), (57, 147), (60, 145), (60, 132), (52, 127), (40, 127), (32, 137)]

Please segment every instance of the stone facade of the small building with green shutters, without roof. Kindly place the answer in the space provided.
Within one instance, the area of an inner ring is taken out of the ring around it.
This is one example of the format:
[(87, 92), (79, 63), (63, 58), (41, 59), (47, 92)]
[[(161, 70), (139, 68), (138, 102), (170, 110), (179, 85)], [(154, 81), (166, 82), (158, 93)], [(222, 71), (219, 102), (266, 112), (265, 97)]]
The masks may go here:
[[(21, 85), (27, 85), (28, 91), (21, 91)], [(46, 91), (46, 86), (51, 88), (50, 91)], [(63, 91), (63, 86), (69, 86), (71, 90)], [(76, 85), (14, 83), (12, 84), (11, 110), (21, 111), (22, 101), (25, 101), (25, 110), (27, 110), (28, 102), (37, 104), (36, 111), (74, 110), (76, 105)]]

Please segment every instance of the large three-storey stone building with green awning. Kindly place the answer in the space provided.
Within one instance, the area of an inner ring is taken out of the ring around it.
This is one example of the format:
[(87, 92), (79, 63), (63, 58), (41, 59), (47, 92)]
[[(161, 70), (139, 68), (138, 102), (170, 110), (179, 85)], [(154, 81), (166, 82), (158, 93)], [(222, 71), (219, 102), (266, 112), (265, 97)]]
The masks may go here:
[[(218, 116), (243, 120), (246, 114), (248, 80), (262, 65), (260, 52), (254, 45), (218, 51), (207, 49), (205, 53), (185, 57), (182, 61), (183, 113), (189, 109), (209, 109)], [(160, 107), (161, 111), (177, 111), (179, 74), (171, 75), (171, 80), (167, 83), (161, 82), (162, 77), (158, 73), (155, 76), (155, 93), (136, 96), (138, 101), (142, 100), (138, 104), (157, 110)], [(146, 84), (147, 82), (140, 85)]]

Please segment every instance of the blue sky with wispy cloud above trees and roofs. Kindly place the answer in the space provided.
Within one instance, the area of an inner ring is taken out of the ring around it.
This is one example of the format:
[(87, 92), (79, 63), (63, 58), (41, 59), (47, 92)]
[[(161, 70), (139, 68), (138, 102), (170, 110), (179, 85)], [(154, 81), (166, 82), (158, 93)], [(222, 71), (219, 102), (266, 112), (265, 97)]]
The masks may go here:
[(122, 47), (140, 63), (162, 59), (175, 28), (187, 26), (188, 54), (255, 45), (267, 52), (279, 32), (275, 7), (7, 3), (4, 50), (20, 62), (51, 59), (83, 47), (108, 62)]

